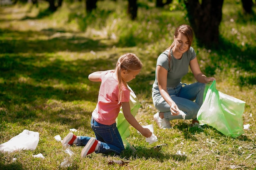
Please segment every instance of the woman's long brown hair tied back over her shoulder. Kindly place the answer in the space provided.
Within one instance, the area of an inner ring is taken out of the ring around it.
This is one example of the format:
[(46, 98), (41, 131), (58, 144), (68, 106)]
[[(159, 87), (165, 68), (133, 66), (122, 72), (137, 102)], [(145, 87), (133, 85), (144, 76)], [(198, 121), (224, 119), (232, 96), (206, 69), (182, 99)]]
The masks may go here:
[[(189, 40), (189, 49), (191, 47), (192, 41), (193, 41), (193, 29), (191, 28), (191, 26), (183, 24), (180, 25), (176, 28), (174, 36), (175, 38), (177, 38), (177, 36), (179, 35), (179, 33), (183, 34), (186, 36), (186, 38), (188, 38)], [(169, 62), (169, 66), (170, 66), (170, 62), (171, 62), (171, 49), (174, 47), (175, 45), (175, 41), (173, 41), (173, 43), (171, 44), (171, 46), (169, 46), (166, 50), (169, 50), (168, 53), (168, 62)]]

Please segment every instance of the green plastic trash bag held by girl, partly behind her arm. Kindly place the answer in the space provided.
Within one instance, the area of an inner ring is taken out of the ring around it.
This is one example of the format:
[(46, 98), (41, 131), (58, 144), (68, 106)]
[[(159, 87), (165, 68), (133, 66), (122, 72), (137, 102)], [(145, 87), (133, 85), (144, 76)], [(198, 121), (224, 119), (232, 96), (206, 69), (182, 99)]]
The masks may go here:
[[(135, 117), (135, 115), (137, 114), (141, 105), (140, 105), (139, 100), (136, 97), (135, 93), (132, 91), (132, 89), (129, 86), (128, 86), (128, 88), (130, 89), (130, 109), (131, 109), (132, 115)], [(129, 131), (130, 124), (124, 117), (122, 108), (120, 109), (120, 112), (117, 116), (116, 123), (117, 123), (117, 129), (121, 135), (124, 145), (126, 146), (126, 148), (130, 147), (130, 144), (126, 140), (126, 137), (128, 137), (130, 135), (130, 131)]]

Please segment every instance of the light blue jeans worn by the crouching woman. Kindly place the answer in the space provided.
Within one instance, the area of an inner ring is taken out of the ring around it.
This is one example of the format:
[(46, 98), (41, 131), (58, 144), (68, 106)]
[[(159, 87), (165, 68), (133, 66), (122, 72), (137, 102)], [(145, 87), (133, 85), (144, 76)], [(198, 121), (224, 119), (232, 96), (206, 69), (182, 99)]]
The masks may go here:
[[(203, 103), (204, 88), (204, 83), (196, 82), (189, 85), (180, 83), (175, 87), (168, 87), (167, 91), (178, 108), (186, 114), (185, 119), (196, 119), (198, 110)], [(164, 112), (165, 119), (183, 119), (182, 115), (171, 115), (170, 106), (164, 100), (158, 88), (152, 88), (152, 99), (157, 110)], [(193, 102), (194, 100), (195, 102)]]

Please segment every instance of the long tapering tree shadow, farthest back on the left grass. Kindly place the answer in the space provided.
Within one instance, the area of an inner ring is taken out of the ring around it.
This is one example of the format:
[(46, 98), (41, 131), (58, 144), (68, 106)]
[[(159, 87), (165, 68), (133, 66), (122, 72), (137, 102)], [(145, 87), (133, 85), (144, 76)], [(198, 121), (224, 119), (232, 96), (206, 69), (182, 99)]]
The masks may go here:
[[(101, 40), (92, 40), (66, 32), (64, 29), (44, 29), (42, 31), (12, 31), (0, 29), (0, 34), (9, 37), (0, 41), (1, 53), (54, 53), (59, 51), (90, 52), (112, 48), (114, 44), (104, 44)], [(43, 39), (36, 37), (44, 37)]]

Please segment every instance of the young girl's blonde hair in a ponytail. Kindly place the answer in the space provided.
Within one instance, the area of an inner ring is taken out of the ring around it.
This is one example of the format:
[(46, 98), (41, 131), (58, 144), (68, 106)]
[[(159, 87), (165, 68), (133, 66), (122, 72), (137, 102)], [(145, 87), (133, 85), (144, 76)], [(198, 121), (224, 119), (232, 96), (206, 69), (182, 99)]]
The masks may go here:
[(121, 71), (125, 70), (129, 71), (136, 71), (141, 69), (142, 63), (139, 58), (133, 53), (125, 53), (121, 55), (117, 61), (117, 66), (115, 70), (117, 70), (117, 78), (118, 78), (118, 88), (119, 88), (119, 95), (118, 100), (119, 103), (121, 102), (121, 97), (123, 96), (123, 86), (125, 86), (128, 90), (128, 85), (126, 81), (121, 76)]

